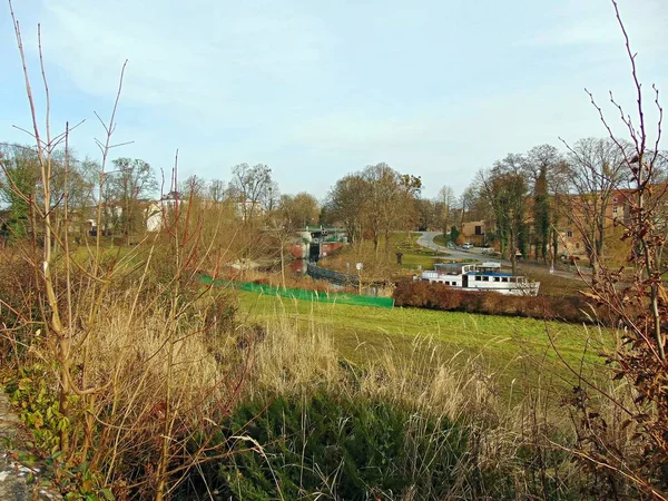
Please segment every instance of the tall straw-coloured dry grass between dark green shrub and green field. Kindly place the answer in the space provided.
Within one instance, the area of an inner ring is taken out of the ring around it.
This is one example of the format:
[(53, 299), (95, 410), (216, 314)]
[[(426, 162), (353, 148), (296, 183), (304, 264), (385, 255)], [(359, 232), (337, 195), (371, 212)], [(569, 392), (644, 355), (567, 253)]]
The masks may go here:
[[(389, 343), (369, 364), (355, 365), (341, 358), (326, 326), (312, 324), (304, 332), (294, 318), (279, 313), (263, 326), (266, 337), (255, 346), (245, 397), (301, 399), (326, 390), (411, 409), (415, 426), (425, 418), (459, 423), (469, 452), (456, 466), (453, 495), (484, 497), (470, 490), (477, 475), (511, 482), (520, 497), (541, 490), (563, 494), (581, 480), (564, 452), (574, 441), (570, 416), (554, 412), (558, 396), (553, 389), (542, 389), (540, 381), (518, 383), (515, 392), (521, 396), (509, 402), (500, 392), (500, 375), (485, 358), (463, 352), (443, 357), (431, 338), (415, 338), (410, 351)], [(430, 440), (434, 448), (448, 446), (442, 436)], [(421, 464), (418, 455), (414, 461), (415, 471), (429, 474), (429, 465)]]

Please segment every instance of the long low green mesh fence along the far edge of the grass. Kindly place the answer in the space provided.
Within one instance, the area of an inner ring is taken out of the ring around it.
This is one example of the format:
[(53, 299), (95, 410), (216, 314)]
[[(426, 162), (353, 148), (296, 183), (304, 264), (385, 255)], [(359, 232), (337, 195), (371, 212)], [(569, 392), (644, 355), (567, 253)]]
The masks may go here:
[(370, 306), (374, 308), (392, 308), (394, 306), (393, 297), (373, 297), (360, 296), (356, 294), (344, 293), (324, 293), (317, 291), (305, 291), (303, 288), (283, 288), (273, 287), (265, 284), (254, 284), (250, 282), (233, 282), (217, 278), (214, 281), (210, 276), (203, 275), (202, 283), (217, 287), (234, 287), (239, 291), (253, 292), (257, 294), (267, 294), (272, 296), (289, 297), (299, 301), (315, 301), (318, 303), (338, 303), (352, 304), (355, 306)]

